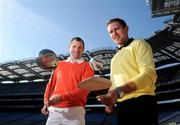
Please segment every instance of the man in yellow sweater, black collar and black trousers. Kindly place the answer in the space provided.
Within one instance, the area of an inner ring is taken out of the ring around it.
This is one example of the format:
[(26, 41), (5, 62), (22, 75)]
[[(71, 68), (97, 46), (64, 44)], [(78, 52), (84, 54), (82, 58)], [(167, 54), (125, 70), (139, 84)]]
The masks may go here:
[(113, 112), (116, 103), (118, 125), (158, 125), (155, 100), (157, 79), (150, 45), (128, 36), (128, 26), (120, 18), (107, 23), (107, 30), (119, 51), (111, 60), (112, 87), (97, 99)]

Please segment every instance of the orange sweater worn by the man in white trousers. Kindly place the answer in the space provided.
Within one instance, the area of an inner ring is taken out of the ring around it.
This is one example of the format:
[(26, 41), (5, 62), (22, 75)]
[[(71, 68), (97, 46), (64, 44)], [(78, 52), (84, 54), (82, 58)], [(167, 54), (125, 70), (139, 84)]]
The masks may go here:
[(61, 102), (54, 105), (54, 107), (84, 107), (88, 91), (78, 89), (77, 85), (80, 81), (92, 76), (94, 76), (94, 70), (88, 62), (71, 63), (60, 61), (46, 86), (44, 101), (48, 100), (50, 91), (50, 97), (55, 95), (61, 96)]

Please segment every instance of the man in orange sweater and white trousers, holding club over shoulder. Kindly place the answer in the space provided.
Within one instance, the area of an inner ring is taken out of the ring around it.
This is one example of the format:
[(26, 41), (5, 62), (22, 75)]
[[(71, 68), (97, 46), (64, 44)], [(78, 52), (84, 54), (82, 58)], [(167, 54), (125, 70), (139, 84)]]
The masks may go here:
[(81, 56), (84, 41), (74, 37), (69, 46), (70, 56), (59, 61), (44, 93), (41, 112), (49, 114), (46, 125), (85, 125), (85, 104), (88, 91), (78, 89), (80, 81), (94, 76), (94, 70)]

